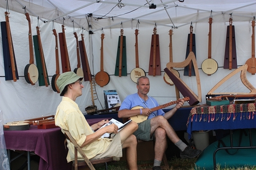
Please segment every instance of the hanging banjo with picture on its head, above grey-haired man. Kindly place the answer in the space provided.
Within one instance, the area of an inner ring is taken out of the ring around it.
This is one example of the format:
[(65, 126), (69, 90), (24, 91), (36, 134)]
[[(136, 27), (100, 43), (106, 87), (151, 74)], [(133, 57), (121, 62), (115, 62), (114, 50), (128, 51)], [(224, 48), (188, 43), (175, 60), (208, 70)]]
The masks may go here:
[(141, 69), (139, 66), (138, 34), (139, 34), (139, 30), (135, 29), (135, 66), (136, 68), (132, 69), (130, 73), (130, 78), (132, 79), (133, 82), (136, 82), (136, 83), (139, 77), (146, 76), (145, 71)]

